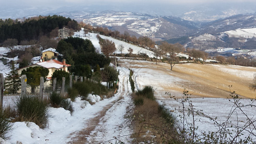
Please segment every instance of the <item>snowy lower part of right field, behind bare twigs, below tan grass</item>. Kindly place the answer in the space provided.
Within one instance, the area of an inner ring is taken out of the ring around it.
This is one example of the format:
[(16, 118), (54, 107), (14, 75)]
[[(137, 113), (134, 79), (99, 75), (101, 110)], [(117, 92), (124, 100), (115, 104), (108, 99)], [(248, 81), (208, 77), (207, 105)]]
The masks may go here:
[[(199, 111), (204, 113), (205, 115), (215, 119), (217, 118), (217, 122), (222, 123), (225, 122), (226, 120), (228, 120), (228, 116), (230, 111), (233, 109), (233, 99), (223, 99), (223, 98), (191, 98), (189, 99), (192, 101), (193, 105), (194, 105), (194, 110), (195, 111)], [(231, 101), (229, 101), (231, 100)], [(158, 102), (160, 104), (166, 105), (167, 108), (169, 108), (172, 112), (172, 114), (174, 114), (174, 116), (176, 116), (176, 120), (181, 120), (180, 115), (183, 114), (182, 111), (182, 104), (180, 103), (181, 101), (177, 102), (174, 99), (165, 99), (165, 98), (159, 98)], [(246, 105), (246, 104), (250, 104), (251, 100), (250, 99), (242, 99), (240, 101), (242, 104)], [(256, 101), (254, 101), (253, 103), (254, 105), (256, 104)], [(185, 114), (187, 117), (187, 113), (188, 113), (188, 108), (189, 108), (189, 104), (185, 103)], [(255, 108), (254, 107), (246, 107), (246, 108), (242, 108), (244, 110), (244, 112), (248, 115), (248, 117), (252, 120), (255, 120)], [(186, 128), (188, 128), (188, 124), (187, 123), (193, 123), (193, 119), (192, 119), (192, 115), (190, 115), (190, 117), (186, 118), (187, 122), (186, 122)], [(247, 121), (247, 117), (239, 110), (236, 109), (234, 111), (234, 114), (231, 116), (231, 118), (229, 119), (229, 121), (231, 121), (232, 124), (228, 124), (228, 126), (235, 126), (237, 123), (240, 127), (243, 127), (245, 122)], [(181, 123), (177, 122), (176, 124), (180, 125)], [(190, 125), (191, 126), (191, 125)], [(213, 121), (211, 121), (209, 118), (202, 116), (202, 115), (197, 115), (195, 114), (195, 127), (198, 127), (198, 130), (196, 130), (195, 132), (197, 134), (202, 134), (201, 132), (217, 132), (219, 130), (219, 127), (216, 126)], [(233, 128), (233, 130), (235, 130)], [(249, 129), (246, 129), (249, 130)], [(256, 133), (256, 130), (253, 130), (254, 133)], [(233, 132), (234, 134), (235, 132)], [(247, 132), (242, 132), (244, 133), (244, 136), (248, 136)], [(233, 135), (234, 136), (234, 135)], [(242, 137), (244, 137), (242, 136)], [(251, 135), (251, 137), (254, 138), (254, 141), (256, 140), (256, 137), (254, 137), (253, 135)]]

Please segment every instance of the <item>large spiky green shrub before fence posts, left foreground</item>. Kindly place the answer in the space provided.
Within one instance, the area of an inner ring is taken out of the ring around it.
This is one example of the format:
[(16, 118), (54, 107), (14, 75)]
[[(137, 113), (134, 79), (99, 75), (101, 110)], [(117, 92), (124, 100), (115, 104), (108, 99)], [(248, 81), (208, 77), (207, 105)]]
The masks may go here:
[(16, 107), (21, 121), (35, 122), (44, 128), (48, 122), (47, 104), (37, 96), (20, 96)]

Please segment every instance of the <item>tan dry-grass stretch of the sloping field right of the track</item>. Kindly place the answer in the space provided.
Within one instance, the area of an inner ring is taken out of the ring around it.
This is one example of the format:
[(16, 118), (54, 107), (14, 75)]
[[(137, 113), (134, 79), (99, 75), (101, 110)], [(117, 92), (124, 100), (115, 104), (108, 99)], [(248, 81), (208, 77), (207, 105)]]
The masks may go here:
[[(127, 62), (127, 61), (126, 61)], [(122, 61), (120, 62), (122, 65)], [(255, 91), (250, 90), (249, 85), (253, 77), (241, 76), (236, 72), (256, 72), (256, 68), (240, 67), (231, 65), (212, 65), (212, 64), (176, 64), (173, 71), (170, 71), (170, 65), (167, 63), (158, 63), (148, 61), (129, 61), (125, 66), (135, 69), (151, 69), (161, 75), (170, 75), (183, 80), (172, 84), (161, 84), (158, 81), (151, 81), (153, 87), (161, 87), (162, 92), (172, 91), (174, 94), (182, 94), (184, 88), (189, 90), (194, 97), (221, 97), (227, 98), (230, 95), (229, 85), (232, 85), (232, 92), (235, 91), (240, 97), (256, 98)], [(230, 70), (231, 72), (225, 72)], [(156, 86), (154, 86), (156, 84)], [(145, 86), (145, 85), (143, 85)], [(158, 96), (156, 96), (158, 98)]]

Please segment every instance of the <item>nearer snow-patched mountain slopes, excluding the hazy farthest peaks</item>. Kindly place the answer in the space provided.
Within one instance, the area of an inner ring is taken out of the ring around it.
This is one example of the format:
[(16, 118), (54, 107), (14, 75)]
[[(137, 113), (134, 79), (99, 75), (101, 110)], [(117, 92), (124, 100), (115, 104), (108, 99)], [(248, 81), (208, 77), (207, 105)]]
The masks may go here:
[[(149, 36), (190, 48), (256, 49), (256, 14), (239, 14), (212, 22), (192, 22), (173, 16), (152, 16), (132, 12), (69, 13), (77, 21), (134, 36)], [(64, 15), (65, 13), (59, 13)], [(67, 14), (67, 13), (66, 13)], [(240, 30), (239, 30), (240, 29)], [(247, 29), (247, 30), (246, 30)], [(249, 30), (248, 30), (249, 29)]]

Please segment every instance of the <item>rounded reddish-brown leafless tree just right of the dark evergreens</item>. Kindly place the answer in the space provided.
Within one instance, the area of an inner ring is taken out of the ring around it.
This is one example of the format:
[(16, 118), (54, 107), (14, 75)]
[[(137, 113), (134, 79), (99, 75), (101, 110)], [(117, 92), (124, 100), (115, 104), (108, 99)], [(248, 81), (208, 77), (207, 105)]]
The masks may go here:
[(116, 50), (115, 43), (108, 39), (103, 39), (99, 44), (101, 46), (101, 51), (106, 57), (109, 57), (109, 55)]

